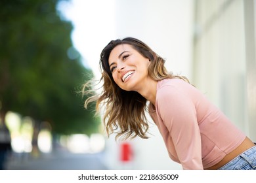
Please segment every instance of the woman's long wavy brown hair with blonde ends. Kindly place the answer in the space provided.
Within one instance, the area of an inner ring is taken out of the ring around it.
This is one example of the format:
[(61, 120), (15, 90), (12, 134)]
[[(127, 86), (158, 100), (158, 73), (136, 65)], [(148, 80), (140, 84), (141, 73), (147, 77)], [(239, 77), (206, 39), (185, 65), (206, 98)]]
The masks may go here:
[[(85, 101), (85, 108), (92, 101), (96, 101), (96, 112), (100, 112), (100, 109), (104, 111), (102, 117), (108, 136), (112, 133), (117, 133), (116, 139), (119, 137), (122, 137), (121, 139), (129, 139), (136, 136), (147, 139), (146, 133), (149, 125), (146, 120), (146, 99), (138, 92), (127, 92), (119, 88), (116, 82), (114, 82), (110, 71), (108, 63), (110, 52), (119, 44), (129, 44), (142, 56), (150, 59), (148, 75), (153, 80), (181, 78), (188, 82), (188, 79), (184, 76), (173, 75), (171, 72), (168, 72), (164, 66), (165, 60), (158, 56), (147, 44), (133, 37), (110, 41), (102, 50), (100, 54), (100, 71), (102, 76), (98, 82), (98, 84), (103, 82), (100, 87), (102, 92), (89, 97)], [(87, 86), (92, 86), (92, 84), (86, 83), (83, 86), (83, 93), (92, 92), (87, 90)]]

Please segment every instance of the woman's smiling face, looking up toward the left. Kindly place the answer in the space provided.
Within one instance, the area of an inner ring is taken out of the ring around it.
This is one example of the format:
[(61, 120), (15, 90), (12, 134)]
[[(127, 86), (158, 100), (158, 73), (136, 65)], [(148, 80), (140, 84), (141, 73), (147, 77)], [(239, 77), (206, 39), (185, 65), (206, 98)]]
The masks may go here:
[(144, 58), (130, 44), (119, 44), (108, 59), (116, 84), (126, 91), (139, 91), (148, 80), (150, 60)]

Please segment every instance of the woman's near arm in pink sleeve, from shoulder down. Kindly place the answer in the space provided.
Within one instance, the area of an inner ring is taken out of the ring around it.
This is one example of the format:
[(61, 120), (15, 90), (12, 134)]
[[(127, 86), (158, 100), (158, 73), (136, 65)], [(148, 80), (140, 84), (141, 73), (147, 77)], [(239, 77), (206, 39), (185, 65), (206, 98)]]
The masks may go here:
[(157, 95), (158, 113), (169, 131), (182, 168), (203, 169), (201, 136), (194, 103), (175, 86), (163, 86)]

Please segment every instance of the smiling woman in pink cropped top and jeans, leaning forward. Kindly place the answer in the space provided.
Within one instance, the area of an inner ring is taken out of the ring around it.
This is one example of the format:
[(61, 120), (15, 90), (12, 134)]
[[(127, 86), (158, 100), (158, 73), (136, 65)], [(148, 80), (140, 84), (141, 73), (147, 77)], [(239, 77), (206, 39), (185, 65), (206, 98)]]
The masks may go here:
[(110, 41), (100, 55), (102, 93), (85, 107), (91, 101), (97, 111), (104, 107), (108, 135), (124, 139), (147, 138), (149, 112), (169, 157), (183, 169), (256, 169), (255, 144), (164, 62), (138, 39)]

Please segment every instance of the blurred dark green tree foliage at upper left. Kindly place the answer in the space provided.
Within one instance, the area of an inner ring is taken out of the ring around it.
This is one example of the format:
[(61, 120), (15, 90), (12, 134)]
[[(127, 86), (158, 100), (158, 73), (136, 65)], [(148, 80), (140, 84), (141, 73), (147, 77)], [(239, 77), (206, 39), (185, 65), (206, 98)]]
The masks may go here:
[[(79, 86), (91, 69), (72, 45), (72, 23), (58, 0), (0, 1), (0, 111), (50, 122), (59, 134), (95, 133), (99, 118), (83, 108)], [(87, 96), (88, 97), (88, 96)]]

